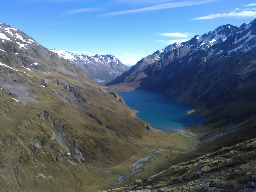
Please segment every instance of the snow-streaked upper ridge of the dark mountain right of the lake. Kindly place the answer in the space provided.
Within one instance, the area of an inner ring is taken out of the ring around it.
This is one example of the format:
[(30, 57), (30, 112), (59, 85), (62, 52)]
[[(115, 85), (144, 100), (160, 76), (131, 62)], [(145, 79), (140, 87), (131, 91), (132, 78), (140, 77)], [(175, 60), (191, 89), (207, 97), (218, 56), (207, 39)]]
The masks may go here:
[[(182, 62), (180, 67), (193, 60), (223, 59), (234, 54), (243, 54), (256, 47), (256, 20), (240, 27), (223, 25), (204, 35), (196, 35), (189, 41), (171, 44), (140, 60), (130, 70), (106, 84), (119, 84), (151, 78), (156, 71), (172, 66), (173, 62)], [(182, 58), (182, 59), (181, 59)], [(180, 60), (181, 59), (181, 60)]]

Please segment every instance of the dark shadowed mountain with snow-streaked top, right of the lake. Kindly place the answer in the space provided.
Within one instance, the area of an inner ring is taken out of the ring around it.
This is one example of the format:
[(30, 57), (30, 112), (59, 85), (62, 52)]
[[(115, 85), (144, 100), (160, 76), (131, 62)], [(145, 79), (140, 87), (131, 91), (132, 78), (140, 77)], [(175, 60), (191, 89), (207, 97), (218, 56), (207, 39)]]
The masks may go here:
[(212, 114), (205, 114), (206, 123), (230, 124), (255, 114), (255, 108), (248, 104), (256, 103), (252, 96), (256, 94), (255, 76), (253, 20), (240, 27), (223, 25), (187, 42), (169, 45), (106, 85), (120, 92), (125, 84), (162, 91), (197, 108), (215, 108)]

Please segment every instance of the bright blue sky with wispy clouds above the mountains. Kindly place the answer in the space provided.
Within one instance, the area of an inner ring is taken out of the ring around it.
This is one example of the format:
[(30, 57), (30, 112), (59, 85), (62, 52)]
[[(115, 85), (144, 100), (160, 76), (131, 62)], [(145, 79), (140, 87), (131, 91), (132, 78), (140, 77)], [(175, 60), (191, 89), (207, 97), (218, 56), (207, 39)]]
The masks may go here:
[(256, 18), (255, 0), (3, 0), (0, 23), (51, 49), (124, 64), (220, 25)]

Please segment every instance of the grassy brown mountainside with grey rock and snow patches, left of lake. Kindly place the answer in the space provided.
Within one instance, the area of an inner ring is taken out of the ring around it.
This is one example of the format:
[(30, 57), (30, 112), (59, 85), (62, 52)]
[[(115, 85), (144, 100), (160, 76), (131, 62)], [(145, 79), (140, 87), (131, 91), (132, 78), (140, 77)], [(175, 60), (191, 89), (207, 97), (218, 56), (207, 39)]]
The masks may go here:
[(0, 118), (1, 191), (92, 191), (150, 134), (116, 93), (5, 24)]

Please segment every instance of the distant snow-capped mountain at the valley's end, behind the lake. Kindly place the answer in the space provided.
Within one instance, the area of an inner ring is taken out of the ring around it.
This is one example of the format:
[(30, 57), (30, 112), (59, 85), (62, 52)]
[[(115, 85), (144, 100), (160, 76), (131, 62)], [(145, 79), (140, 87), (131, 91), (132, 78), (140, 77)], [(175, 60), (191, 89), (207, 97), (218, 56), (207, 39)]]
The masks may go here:
[(58, 49), (50, 49), (59, 57), (69, 60), (77, 69), (92, 77), (98, 84), (106, 84), (127, 71), (129, 67), (122, 64), (114, 55), (77, 55)]

